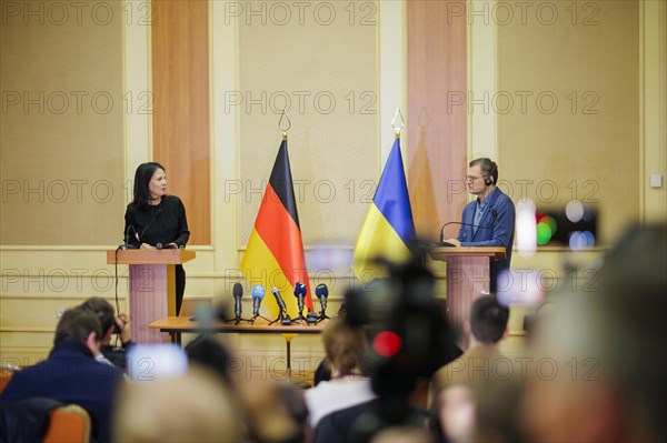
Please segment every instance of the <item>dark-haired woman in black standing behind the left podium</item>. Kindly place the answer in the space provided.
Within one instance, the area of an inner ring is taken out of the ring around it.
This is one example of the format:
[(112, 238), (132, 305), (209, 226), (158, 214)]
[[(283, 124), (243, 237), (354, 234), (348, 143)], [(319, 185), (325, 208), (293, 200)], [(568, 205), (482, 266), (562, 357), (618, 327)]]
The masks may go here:
[[(186, 208), (176, 195), (167, 194), (167, 174), (160, 163), (141, 163), (135, 173), (133, 200), (126, 210), (125, 242), (129, 248), (185, 248), (190, 231)], [(176, 313), (186, 291), (186, 271), (176, 265)]]

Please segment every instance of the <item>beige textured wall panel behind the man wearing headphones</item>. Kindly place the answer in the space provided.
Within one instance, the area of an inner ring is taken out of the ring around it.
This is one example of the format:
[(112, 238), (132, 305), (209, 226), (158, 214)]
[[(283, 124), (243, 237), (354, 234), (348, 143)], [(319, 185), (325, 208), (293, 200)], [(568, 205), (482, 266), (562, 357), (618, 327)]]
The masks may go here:
[(639, 2), (536, 2), (526, 21), (498, 26), (500, 180), (538, 208), (594, 204), (609, 244), (640, 220)]

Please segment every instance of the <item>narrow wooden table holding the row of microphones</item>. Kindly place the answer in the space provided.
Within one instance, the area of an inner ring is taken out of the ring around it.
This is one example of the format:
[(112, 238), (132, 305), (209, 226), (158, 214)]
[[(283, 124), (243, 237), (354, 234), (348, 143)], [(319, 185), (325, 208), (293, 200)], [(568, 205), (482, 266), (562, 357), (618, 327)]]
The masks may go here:
[(190, 320), (189, 316), (163, 316), (151, 322), (148, 328), (159, 329), (160, 332), (169, 333), (171, 342), (181, 344), (181, 333), (207, 333), (223, 332), (239, 334), (281, 334), (287, 343), (287, 373), (291, 375), (291, 340), (298, 334), (320, 334), (325, 329), (326, 322), (308, 324), (297, 322), (290, 325), (279, 323), (269, 324), (265, 319), (257, 319), (253, 324), (243, 322), (233, 324), (231, 322), (216, 321), (212, 323), (200, 323)]

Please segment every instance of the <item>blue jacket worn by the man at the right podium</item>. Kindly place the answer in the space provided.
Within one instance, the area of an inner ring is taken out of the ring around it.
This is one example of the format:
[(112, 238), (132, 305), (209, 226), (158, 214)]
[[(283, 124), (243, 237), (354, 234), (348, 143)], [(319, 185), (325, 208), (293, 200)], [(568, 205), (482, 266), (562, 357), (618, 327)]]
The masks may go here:
[[(461, 225), (458, 241), (461, 246), (502, 246), (507, 260), (491, 262), (490, 266), (490, 291), (496, 292), (498, 274), (509, 271), (511, 261), (511, 246), (514, 243), (515, 208), (506, 193), (496, 188), (488, 197), (488, 204), (484, 210), (477, 232), (472, 226)], [(461, 221), (475, 224), (475, 208), (477, 200), (466, 204)]]

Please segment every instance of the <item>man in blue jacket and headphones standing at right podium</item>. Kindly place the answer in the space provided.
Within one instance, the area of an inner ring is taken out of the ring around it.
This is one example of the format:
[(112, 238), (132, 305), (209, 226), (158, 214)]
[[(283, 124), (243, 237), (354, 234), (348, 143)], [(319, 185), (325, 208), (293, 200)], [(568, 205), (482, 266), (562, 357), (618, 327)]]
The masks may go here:
[(457, 239), (446, 240), (457, 246), (501, 246), (506, 260), (490, 264), (491, 292), (496, 292), (498, 275), (509, 271), (514, 243), (515, 207), (511, 199), (496, 184), (498, 165), (487, 158), (472, 160), (468, 164), (466, 184), (468, 192), (476, 195), (464, 209), (461, 228)]

